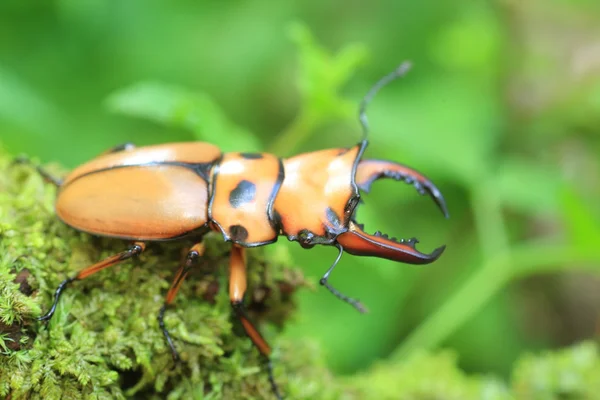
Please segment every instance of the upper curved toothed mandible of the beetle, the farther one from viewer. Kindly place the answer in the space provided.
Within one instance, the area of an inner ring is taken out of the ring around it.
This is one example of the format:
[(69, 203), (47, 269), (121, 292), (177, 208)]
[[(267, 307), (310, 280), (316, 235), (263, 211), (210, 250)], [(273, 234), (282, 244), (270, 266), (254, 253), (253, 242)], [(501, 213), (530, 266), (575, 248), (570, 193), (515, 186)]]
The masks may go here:
[(446, 201), (440, 190), (423, 174), (405, 165), (384, 160), (362, 160), (356, 169), (356, 184), (364, 192), (369, 192), (377, 179), (392, 178), (414, 186), (421, 195), (428, 194), (446, 218), (449, 217)]

